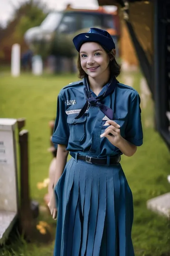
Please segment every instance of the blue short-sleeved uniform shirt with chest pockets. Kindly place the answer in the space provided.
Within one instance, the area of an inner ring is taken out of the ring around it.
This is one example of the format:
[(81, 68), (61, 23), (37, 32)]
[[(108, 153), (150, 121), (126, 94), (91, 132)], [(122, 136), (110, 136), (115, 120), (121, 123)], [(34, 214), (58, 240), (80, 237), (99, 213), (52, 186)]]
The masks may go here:
[[(100, 94), (105, 91), (106, 86)], [(92, 96), (96, 95), (92, 93)], [(107, 138), (100, 138), (100, 134), (108, 127), (103, 126), (108, 117), (98, 107), (90, 105), (82, 117), (75, 119), (85, 102), (82, 80), (71, 83), (60, 91), (52, 142), (55, 145), (66, 145), (67, 151), (93, 157), (122, 154)], [(101, 103), (113, 109), (113, 120), (121, 126), (121, 136), (136, 146), (142, 145), (140, 96), (137, 91), (117, 83), (114, 92)]]

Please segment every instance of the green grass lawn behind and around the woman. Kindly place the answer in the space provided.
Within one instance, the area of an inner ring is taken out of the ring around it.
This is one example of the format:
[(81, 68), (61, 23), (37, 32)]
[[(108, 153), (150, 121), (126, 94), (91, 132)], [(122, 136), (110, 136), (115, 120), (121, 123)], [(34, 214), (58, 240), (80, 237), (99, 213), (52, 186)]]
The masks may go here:
[[(140, 93), (140, 73), (130, 74), (134, 87)], [(19, 78), (9, 73), (0, 75), (0, 117), (26, 118), (25, 128), (29, 131), (29, 181), (30, 194), (43, 204), (47, 189), (39, 190), (37, 183), (48, 177), (52, 155), (49, 147), (50, 129), (48, 122), (56, 115), (56, 100), (61, 88), (75, 75), (34, 77), (23, 74)], [(126, 83), (126, 74), (119, 77)], [(141, 104), (142, 106), (142, 104)], [(144, 143), (133, 157), (122, 157), (122, 167), (134, 198), (133, 243), (136, 256), (169, 256), (170, 223), (162, 216), (147, 210), (146, 201), (169, 192), (167, 174), (170, 174), (169, 151), (153, 129), (154, 107), (151, 98), (142, 109)], [(55, 232), (51, 216), (41, 214), (39, 220), (48, 222)], [(26, 243), (22, 237), (10, 237), (10, 242), (0, 248), (0, 256), (51, 256), (53, 241), (49, 243)], [(76, 256), (76, 255), (75, 255)], [(130, 255), (129, 255), (130, 256)]]

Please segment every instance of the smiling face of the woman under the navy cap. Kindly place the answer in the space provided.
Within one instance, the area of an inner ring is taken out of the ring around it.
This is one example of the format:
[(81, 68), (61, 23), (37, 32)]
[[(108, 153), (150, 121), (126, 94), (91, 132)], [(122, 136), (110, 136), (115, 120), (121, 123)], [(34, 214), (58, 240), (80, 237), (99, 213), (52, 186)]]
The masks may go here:
[(80, 62), (84, 72), (93, 78), (108, 75), (109, 56), (96, 42), (86, 42), (81, 46)]

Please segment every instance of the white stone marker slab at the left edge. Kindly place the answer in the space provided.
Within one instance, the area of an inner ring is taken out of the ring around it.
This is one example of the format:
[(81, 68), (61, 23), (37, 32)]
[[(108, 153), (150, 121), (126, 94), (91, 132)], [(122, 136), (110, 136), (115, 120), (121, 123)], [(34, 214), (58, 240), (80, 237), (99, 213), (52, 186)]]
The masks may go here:
[(16, 119), (0, 118), (0, 244), (8, 237), (18, 215), (16, 124)]

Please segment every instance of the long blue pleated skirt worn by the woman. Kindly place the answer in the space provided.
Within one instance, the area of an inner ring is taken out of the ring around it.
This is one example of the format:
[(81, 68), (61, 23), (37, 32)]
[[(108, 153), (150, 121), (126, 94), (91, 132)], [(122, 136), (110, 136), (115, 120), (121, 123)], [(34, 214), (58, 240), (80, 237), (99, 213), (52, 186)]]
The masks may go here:
[(56, 187), (54, 256), (134, 256), (132, 192), (121, 164), (71, 158)]

